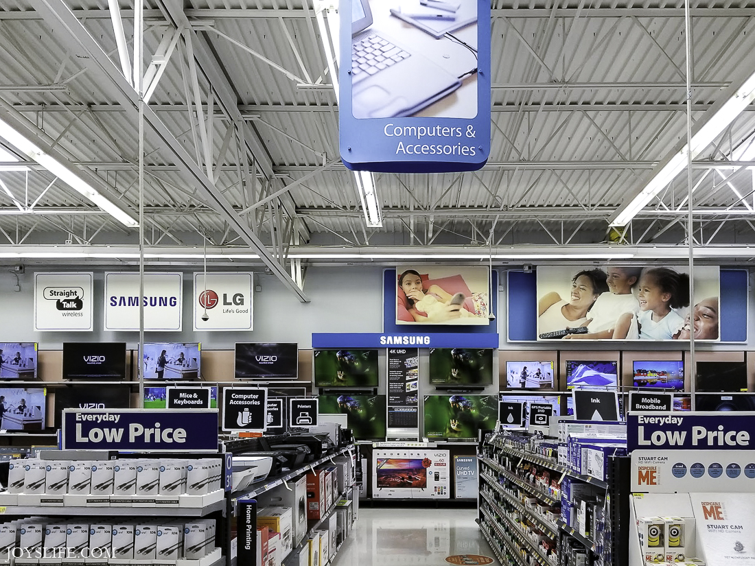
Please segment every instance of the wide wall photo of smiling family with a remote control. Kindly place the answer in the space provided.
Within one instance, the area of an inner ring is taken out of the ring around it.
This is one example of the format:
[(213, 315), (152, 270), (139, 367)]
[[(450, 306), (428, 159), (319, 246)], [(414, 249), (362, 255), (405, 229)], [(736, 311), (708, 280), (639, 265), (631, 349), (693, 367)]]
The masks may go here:
[(720, 340), (720, 273), (695, 266), (541, 266), (538, 340)]

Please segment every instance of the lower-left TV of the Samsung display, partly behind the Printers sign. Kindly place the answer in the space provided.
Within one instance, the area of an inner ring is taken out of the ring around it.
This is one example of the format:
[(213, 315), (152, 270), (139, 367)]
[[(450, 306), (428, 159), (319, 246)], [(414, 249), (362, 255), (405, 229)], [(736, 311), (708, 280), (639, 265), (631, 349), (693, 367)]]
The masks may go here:
[(385, 395), (318, 395), (317, 398), (320, 413), (347, 415), (348, 427), (357, 440), (385, 438)]

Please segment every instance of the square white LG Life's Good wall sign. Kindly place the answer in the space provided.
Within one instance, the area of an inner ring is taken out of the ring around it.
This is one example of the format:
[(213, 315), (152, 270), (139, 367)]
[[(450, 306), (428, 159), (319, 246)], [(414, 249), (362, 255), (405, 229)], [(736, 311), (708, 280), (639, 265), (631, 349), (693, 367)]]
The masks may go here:
[(194, 273), (194, 331), (251, 331), (251, 273)]

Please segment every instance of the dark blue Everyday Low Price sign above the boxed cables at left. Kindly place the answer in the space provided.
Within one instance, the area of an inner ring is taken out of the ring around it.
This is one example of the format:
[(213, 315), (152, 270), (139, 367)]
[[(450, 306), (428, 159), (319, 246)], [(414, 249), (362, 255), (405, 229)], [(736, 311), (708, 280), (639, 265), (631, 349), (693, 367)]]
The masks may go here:
[(63, 450), (217, 452), (217, 410), (65, 409)]

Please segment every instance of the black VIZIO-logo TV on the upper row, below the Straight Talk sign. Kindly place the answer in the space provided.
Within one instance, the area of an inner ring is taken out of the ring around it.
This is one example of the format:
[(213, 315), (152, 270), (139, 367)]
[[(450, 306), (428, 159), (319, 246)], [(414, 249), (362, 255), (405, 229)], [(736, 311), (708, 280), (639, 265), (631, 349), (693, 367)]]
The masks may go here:
[(125, 380), (125, 342), (63, 343), (64, 380)]

